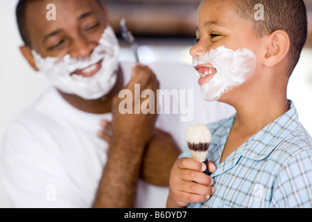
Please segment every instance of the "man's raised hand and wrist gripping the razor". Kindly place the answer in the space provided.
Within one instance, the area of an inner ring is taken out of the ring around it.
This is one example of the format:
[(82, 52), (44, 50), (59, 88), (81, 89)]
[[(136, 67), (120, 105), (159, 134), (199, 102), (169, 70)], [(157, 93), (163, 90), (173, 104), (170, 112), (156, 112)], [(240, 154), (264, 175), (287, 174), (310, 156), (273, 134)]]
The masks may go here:
[[(135, 85), (139, 84), (140, 92), (135, 93)], [(119, 103), (123, 98), (116, 95), (112, 105), (112, 144), (116, 142), (125, 142), (125, 145), (132, 145), (134, 147), (145, 146), (153, 136), (154, 124), (157, 119), (157, 98), (155, 98), (154, 114), (135, 114), (135, 107), (141, 108), (141, 92), (144, 89), (151, 89), (157, 96), (157, 89), (159, 89), (159, 82), (148, 67), (138, 64), (132, 69), (132, 79), (126, 87), (127, 92), (132, 96), (132, 113), (121, 114), (119, 111)], [(135, 103), (137, 102), (137, 104)], [(126, 148), (125, 146), (125, 148)]]

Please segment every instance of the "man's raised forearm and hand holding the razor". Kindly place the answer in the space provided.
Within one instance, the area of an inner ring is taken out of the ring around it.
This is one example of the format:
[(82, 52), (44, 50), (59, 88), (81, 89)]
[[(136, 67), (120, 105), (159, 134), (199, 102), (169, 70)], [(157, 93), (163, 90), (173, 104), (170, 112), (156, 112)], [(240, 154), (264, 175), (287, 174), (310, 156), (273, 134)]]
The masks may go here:
[[(159, 87), (155, 74), (148, 67), (137, 65), (132, 69), (132, 80), (127, 90), (133, 99), (133, 109), (135, 109), (135, 101), (139, 101), (141, 96), (141, 92), (138, 95), (135, 94), (135, 84), (140, 85), (141, 91), (151, 89), (156, 92)], [(121, 114), (120, 102), (121, 99), (117, 95), (112, 108), (113, 136), (94, 207), (135, 206), (144, 148), (152, 138), (155, 129), (156, 114)], [(141, 104), (139, 105), (141, 107)]]

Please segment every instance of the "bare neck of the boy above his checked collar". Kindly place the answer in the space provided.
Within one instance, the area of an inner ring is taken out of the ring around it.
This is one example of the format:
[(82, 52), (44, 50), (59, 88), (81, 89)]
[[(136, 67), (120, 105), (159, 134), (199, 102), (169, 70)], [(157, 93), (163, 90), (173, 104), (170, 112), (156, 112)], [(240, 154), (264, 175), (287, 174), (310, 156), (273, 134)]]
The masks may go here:
[(289, 110), (288, 76), (278, 69), (262, 74), (264, 77), (252, 80), (232, 103), (237, 112), (234, 124), (240, 130), (257, 133)]

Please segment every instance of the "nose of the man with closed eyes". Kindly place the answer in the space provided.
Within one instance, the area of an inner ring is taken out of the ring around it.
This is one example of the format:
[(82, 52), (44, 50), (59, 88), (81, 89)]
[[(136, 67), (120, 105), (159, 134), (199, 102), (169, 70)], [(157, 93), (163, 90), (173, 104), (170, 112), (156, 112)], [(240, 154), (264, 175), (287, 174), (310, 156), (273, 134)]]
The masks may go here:
[(76, 40), (73, 40), (69, 55), (71, 58), (87, 57), (92, 53), (95, 47), (96, 44), (94, 42), (90, 42), (83, 37), (79, 37)]

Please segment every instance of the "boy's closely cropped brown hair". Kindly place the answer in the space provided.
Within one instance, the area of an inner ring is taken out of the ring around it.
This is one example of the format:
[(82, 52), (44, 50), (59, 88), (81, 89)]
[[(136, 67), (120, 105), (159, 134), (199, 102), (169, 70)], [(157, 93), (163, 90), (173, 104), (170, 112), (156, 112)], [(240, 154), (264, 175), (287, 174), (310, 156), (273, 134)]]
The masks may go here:
[[(232, 0), (236, 13), (254, 24), (258, 37), (270, 35), (274, 31), (283, 30), (288, 33), (291, 47), (288, 53), (289, 75), (295, 69), (300, 53), (306, 42), (308, 22), (306, 6), (303, 0)], [(263, 20), (255, 19), (257, 4), (264, 9)]]

